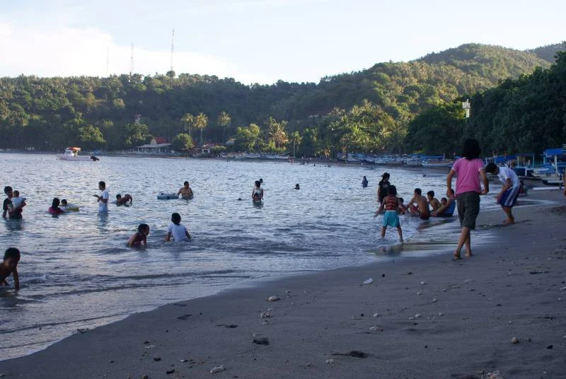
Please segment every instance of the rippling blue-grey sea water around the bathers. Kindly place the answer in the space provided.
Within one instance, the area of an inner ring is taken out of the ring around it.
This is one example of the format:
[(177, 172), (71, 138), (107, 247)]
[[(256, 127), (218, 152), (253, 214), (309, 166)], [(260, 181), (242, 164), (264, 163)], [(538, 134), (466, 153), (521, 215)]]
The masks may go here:
[[(407, 241), (401, 246), (395, 228), (379, 238), (381, 216), (374, 218), (376, 185), (384, 171), (405, 202), (415, 187), (445, 196), (443, 172), (221, 159), (69, 162), (16, 153), (0, 158), (1, 187), (18, 189), (28, 203), (21, 221), (0, 223), (1, 253), (18, 247), (22, 254), (21, 290), (0, 289), (0, 359), (37, 351), (81, 328), (253, 279), (391, 259), (403, 255), (403, 246), (425, 254), (430, 251), (417, 247), (439, 240), (454, 244), (446, 231), (427, 228), (444, 220), (401, 216)], [(265, 198), (255, 206), (251, 192), (260, 177)], [(106, 215), (98, 214), (93, 197), (100, 180), (110, 192)], [(194, 199), (157, 199), (158, 192), (177, 192), (185, 180)], [(296, 183), (301, 189), (294, 189)], [(131, 194), (132, 206), (112, 204), (118, 193)], [(50, 216), (53, 197), (79, 205), (80, 211)], [(189, 228), (190, 243), (164, 241), (173, 212)], [(151, 228), (148, 247), (129, 248), (126, 241), (139, 223)], [(449, 226), (457, 236), (454, 224)]]

